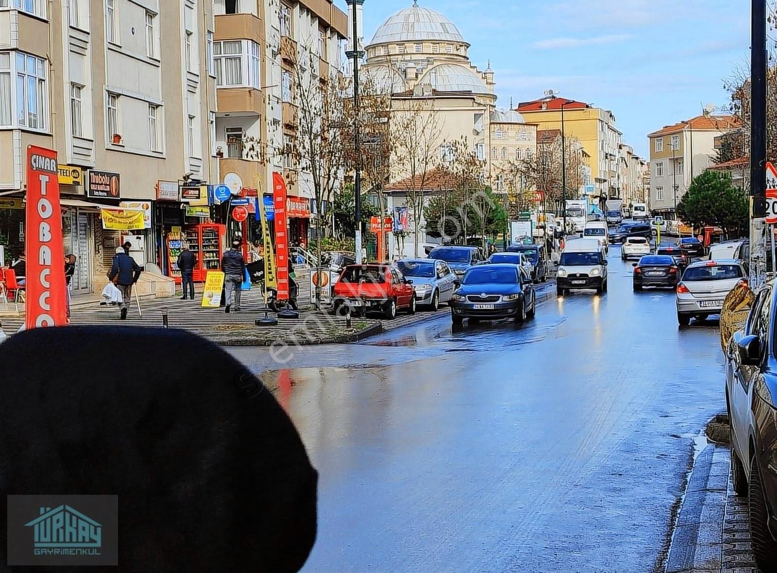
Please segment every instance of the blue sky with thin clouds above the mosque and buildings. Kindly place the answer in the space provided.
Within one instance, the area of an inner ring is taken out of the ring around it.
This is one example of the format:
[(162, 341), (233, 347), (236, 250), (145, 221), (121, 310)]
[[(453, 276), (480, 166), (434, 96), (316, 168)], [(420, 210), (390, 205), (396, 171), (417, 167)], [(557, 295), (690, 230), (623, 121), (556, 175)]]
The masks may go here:
[[(336, 0), (346, 9), (344, 0)], [(413, 0), (365, 0), (364, 35)], [(723, 80), (746, 66), (747, 0), (419, 0), (458, 26), (473, 64), (490, 59), (498, 106), (559, 95), (611, 109), (647, 156), (653, 130), (726, 105)]]

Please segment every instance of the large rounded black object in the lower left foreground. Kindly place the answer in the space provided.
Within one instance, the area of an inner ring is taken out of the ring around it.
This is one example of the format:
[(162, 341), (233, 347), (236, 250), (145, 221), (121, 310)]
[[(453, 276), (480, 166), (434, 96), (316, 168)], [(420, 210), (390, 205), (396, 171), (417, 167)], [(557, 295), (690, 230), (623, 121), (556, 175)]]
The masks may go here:
[(305, 563), (317, 474), (222, 349), (176, 330), (39, 328), (0, 345), (0, 364), (0, 563), (9, 494), (118, 495), (123, 571)]

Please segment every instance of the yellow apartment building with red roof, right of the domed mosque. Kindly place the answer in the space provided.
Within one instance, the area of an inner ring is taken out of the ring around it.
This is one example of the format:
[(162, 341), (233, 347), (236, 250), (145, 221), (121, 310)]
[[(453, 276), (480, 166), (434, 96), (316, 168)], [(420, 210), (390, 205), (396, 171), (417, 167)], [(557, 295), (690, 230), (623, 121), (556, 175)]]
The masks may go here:
[[(562, 109), (563, 108), (563, 109)], [(567, 137), (577, 137), (591, 165), (593, 203), (622, 195), (618, 178), (619, 149), (622, 132), (615, 127), (615, 115), (608, 109), (574, 99), (545, 97), (518, 104), (517, 111), (539, 130), (561, 130)]]

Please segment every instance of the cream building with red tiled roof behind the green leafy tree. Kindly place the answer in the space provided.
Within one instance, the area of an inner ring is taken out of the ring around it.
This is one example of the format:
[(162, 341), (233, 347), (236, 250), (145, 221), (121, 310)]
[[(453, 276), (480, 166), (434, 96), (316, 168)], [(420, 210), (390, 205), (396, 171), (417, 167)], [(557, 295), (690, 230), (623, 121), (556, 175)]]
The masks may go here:
[(713, 164), (716, 137), (739, 127), (736, 116), (706, 110), (689, 120), (664, 126), (650, 140), (650, 203), (653, 212), (673, 217), (692, 179)]

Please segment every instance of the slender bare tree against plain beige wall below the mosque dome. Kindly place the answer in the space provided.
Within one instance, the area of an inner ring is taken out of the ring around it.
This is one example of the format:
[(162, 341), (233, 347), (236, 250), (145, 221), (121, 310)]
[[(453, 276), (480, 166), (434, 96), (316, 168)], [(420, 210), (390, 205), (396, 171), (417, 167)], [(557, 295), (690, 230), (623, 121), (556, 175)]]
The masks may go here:
[(403, 100), (392, 112), (390, 134), (394, 147), (392, 178), (402, 182), (416, 232), (413, 252), (418, 256), (418, 233), (423, 217), (424, 195), (430, 191), (434, 171), (440, 165), (439, 137), (442, 120), (427, 99)]

